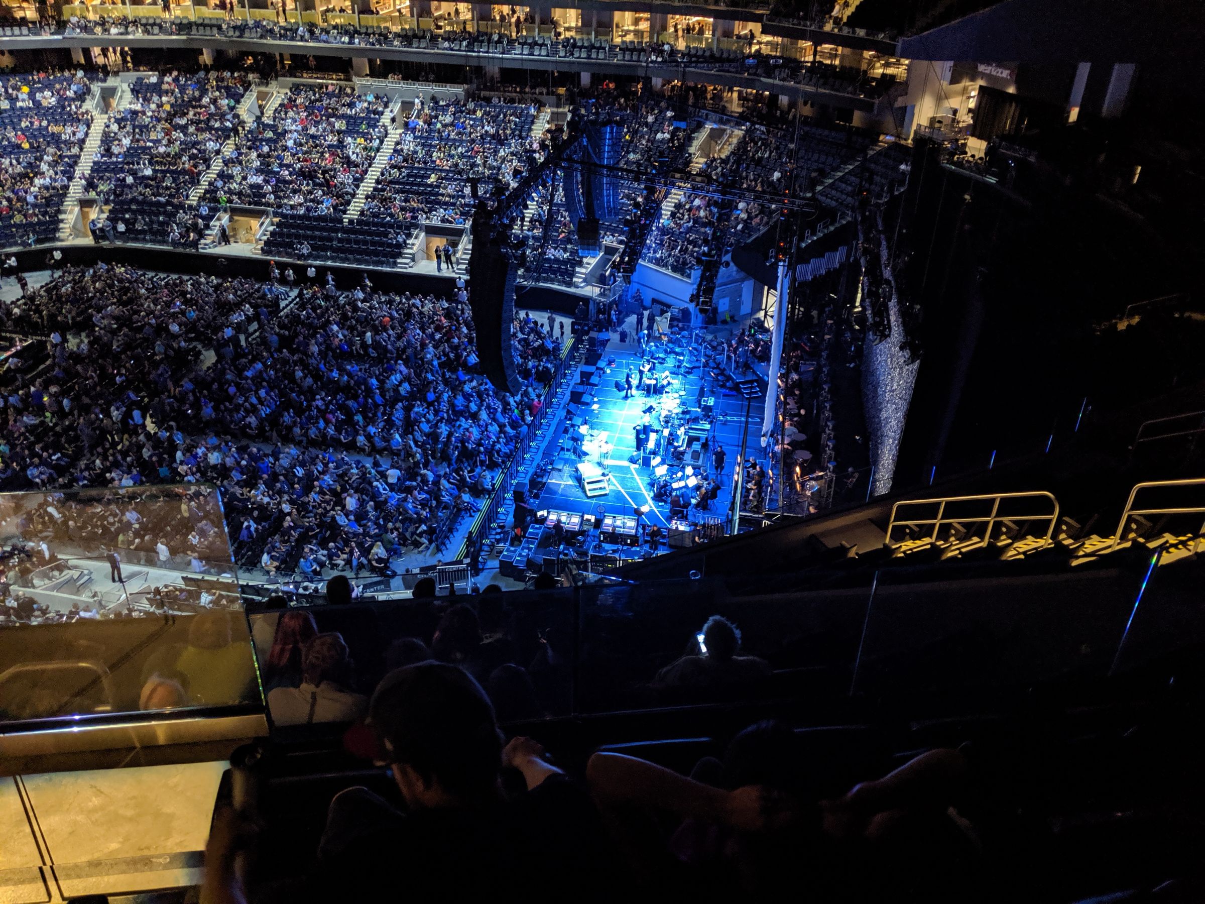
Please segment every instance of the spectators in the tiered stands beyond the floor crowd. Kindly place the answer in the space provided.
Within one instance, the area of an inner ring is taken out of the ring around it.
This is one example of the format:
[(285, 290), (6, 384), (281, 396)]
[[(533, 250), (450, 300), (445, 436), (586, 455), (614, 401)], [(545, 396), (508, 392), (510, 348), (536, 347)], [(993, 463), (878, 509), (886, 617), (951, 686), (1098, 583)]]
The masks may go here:
[[(10, 78), (11, 95), (24, 96), (20, 81)], [(49, 104), (55, 96), (77, 95), (87, 84), (78, 76), (57, 77), (36, 96)], [(283, 98), (268, 102), (263, 118), (245, 125), (237, 105), (251, 84), (243, 74), (178, 71), (129, 83), (130, 99), (106, 122), (84, 180), (86, 192), (111, 205), (90, 223), (96, 241), (195, 248), (208, 229), (213, 205), (249, 204), (272, 207), (278, 216), (265, 240), (265, 254), (396, 266), (422, 223), (465, 225), (476, 206), (475, 194), (511, 189), (553, 140), (548, 130), (534, 134), (534, 105), (419, 98), (404, 125), (399, 121), (399, 137), (387, 148), (374, 190), (357, 218), (345, 223), (342, 216), (384, 141), (387, 99), (358, 94), (351, 84), (295, 84)], [(686, 115), (678, 104), (613, 86), (588, 94), (584, 116), (593, 143), (602, 136), (616, 145), (606, 152), (607, 159), (643, 171), (689, 164), (690, 131), (683, 128)], [(721, 187), (772, 195), (792, 184), (797, 192), (801, 184), (817, 184), (865, 148), (865, 139), (856, 133), (800, 130), (803, 141), (797, 148), (789, 133), (750, 125), (734, 145), (704, 160), (699, 171)], [(58, 159), (60, 152), (46, 154)], [(202, 202), (194, 206), (190, 194), (213, 160), (216, 175)], [(42, 164), (43, 170), (48, 168)], [(64, 168), (69, 170), (70, 165)], [(40, 180), (48, 181), (65, 190), (69, 180), (49, 175)], [(618, 262), (621, 269), (634, 266), (647, 245), (645, 259), (689, 277), (695, 268), (722, 258), (775, 219), (766, 204), (727, 202), (689, 192), (671, 194), (657, 216), (648, 216), (664, 190), (649, 194), (646, 188), (619, 181), (612, 189), (601, 181), (610, 216), (600, 215), (600, 227), (610, 239), (631, 246)], [(547, 190), (542, 184), (534, 187), (529, 212), (512, 224), (512, 237), (525, 243), (521, 269), (527, 277), (537, 274), (542, 282), (568, 286), (581, 262), (575, 221), (584, 211), (576, 193), (562, 198), (558, 184), (552, 222), (546, 223)], [(825, 200), (840, 206), (850, 200), (845, 195), (852, 188), (837, 183), (825, 192)], [(633, 222), (623, 222), (625, 215)], [(11, 218), (28, 216), (29, 211)], [(49, 211), (42, 216), (45, 229), (54, 227)], [(646, 242), (649, 234), (652, 240)], [(228, 236), (219, 230), (217, 240), (229, 241)], [(454, 265), (446, 258), (437, 259), (439, 269)]]

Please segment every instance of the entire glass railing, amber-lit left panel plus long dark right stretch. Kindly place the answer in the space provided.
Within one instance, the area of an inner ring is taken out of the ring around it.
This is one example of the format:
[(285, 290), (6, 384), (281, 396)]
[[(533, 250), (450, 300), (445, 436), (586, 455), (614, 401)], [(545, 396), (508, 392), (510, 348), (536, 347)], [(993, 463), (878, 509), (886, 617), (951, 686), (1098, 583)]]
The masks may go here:
[(460, 595), (269, 609), (240, 598), (222, 524), (218, 492), (195, 485), (0, 497), (0, 734), (264, 700), (275, 729), (345, 726), (387, 671), (429, 658), (460, 664), (516, 723), (974, 702), (1205, 644), (1194, 559), (897, 568), (868, 551), (806, 576), (759, 574), (756, 591), (736, 559), (723, 579), (646, 583), (580, 582), (565, 567), (546, 591), (466, 594), (463, 575)]

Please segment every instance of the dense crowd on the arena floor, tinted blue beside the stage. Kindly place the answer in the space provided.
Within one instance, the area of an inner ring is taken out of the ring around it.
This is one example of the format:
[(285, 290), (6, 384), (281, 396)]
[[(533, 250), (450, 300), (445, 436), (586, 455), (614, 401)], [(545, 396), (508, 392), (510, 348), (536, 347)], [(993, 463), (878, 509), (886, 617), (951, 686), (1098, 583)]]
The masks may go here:
[(51, 331), (2, 399), (0, 482), (216, 483), (240, 562), (384, 573), (445, 539), (530, 422), (562, 340), (519, 327), (512, 397), (478, 374), (464, 290), (69, 269), (0, 303), (0, 329)]

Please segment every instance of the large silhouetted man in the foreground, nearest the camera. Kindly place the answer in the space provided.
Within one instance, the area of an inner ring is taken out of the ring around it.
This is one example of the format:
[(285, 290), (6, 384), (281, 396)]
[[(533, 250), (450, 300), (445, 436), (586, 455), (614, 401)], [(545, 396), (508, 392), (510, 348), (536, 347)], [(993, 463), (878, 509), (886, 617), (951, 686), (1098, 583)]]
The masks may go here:
[[(517, 902), (570, 890), (575, 900), (612, 899), (589, 797), (531, 739), (504, 747), (494, 708), (468, 673), (436, 662), (389, 673), (369, 726), (405, 810), (366, 788), (336, 794), (307, 899)], [(504, 768), (517, 770), (527, 793), (502, 798)], [(246, 900), (234, 869), (241, 837), (239, 817), (219, 809), (202, 900)]]

